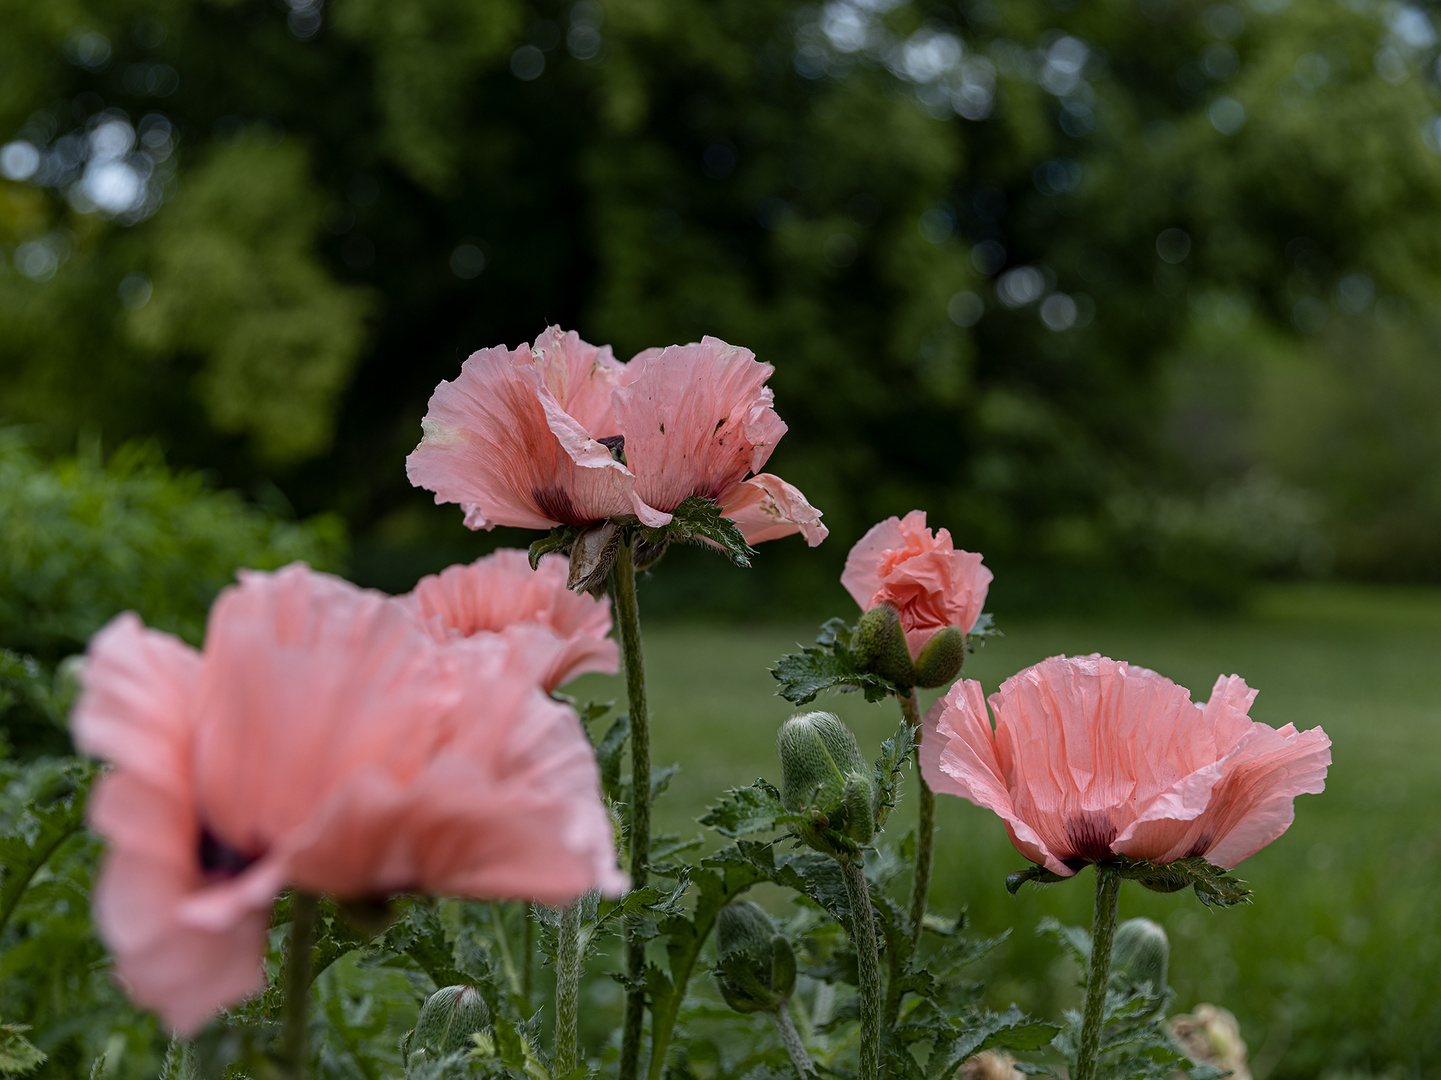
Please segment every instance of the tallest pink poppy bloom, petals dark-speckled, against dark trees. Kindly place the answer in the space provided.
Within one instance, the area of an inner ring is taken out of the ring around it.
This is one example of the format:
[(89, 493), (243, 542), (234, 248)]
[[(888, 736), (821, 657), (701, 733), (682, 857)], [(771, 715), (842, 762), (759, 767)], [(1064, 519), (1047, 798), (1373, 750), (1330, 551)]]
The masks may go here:
[(759, 473), (785, 434), (764, 385), (772, 371), (715, 337), (623, 365), (552, 326), (532, 346), (481, 349), (435, 388), (406, 474), (460, 503), (473, 529), (660, 526), (702, 495), (735, 508), (746, 539), (801, 532), (814, 546), (820, 512)]

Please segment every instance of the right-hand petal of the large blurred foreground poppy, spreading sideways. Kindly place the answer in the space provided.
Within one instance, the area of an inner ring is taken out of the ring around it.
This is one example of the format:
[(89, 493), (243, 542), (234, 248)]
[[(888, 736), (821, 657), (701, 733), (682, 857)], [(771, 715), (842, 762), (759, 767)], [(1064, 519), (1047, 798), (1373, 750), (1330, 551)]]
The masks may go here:
[(455, 740), (419, 774), (356, 770), (287, 839), (293, 880), (339, 895), (419, 890), (562, 904), (624, 888), (589, 740), (501, 637), (465, 643)]

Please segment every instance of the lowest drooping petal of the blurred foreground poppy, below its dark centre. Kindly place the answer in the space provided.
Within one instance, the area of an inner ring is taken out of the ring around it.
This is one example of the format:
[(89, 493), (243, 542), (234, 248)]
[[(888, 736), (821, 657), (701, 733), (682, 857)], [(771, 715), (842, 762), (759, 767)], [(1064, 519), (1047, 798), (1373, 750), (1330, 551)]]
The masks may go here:
[(210, 1014), (265, 988), (274, 894), (222, 926), (200, 929), (180, 917), (206, 888), (183, 779), (161, 789), (127, 769), (108, 773), (91, 796), (89, 819), (110, 839), (95, 882), (95, 924), (135, 1002), (192, 1035)]

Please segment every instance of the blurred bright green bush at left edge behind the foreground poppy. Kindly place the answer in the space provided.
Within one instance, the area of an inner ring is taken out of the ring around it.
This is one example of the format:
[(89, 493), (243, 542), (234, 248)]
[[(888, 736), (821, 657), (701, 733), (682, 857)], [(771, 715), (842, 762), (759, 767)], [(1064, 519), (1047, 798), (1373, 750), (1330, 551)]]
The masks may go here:
[(293, 522), (208, 490), (153, 447), (43, 461), (0, 430), (0, 645), (53, 662), (108, 619), (199, 642), (215, 594), (238, 567), (336, 565), (333, 518)]

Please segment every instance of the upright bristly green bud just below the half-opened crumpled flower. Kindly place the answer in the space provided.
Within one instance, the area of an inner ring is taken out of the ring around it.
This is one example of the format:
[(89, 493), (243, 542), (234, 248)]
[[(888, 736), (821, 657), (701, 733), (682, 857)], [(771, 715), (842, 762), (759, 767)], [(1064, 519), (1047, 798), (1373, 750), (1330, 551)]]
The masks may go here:
[(856, 735), (830, 712), (781, 725), (781, 803), (804, 815), (797, 835), (827, 855), (855, 852), (876, 835), (876, 787)]

